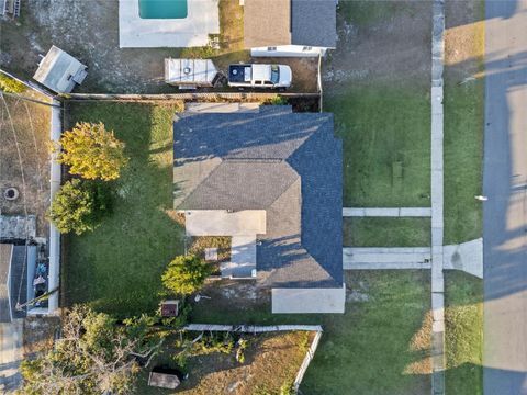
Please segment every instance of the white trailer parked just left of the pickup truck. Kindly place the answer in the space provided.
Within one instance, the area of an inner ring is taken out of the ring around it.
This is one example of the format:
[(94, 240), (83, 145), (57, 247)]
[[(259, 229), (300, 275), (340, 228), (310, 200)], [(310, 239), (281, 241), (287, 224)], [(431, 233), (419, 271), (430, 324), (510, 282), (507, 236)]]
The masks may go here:
[(165, 82), (182, 89), (212, 87), (216, 75), (210, 59), (165, 59)]

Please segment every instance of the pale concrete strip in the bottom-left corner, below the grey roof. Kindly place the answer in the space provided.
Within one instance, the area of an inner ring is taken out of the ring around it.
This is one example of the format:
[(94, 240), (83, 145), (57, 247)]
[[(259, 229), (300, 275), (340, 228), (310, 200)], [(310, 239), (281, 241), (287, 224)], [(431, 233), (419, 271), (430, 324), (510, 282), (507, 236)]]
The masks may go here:
[(23, 357), (23, 320), (0, 323), (0, 393), (10, 394), (21, 383), (19, 365)]

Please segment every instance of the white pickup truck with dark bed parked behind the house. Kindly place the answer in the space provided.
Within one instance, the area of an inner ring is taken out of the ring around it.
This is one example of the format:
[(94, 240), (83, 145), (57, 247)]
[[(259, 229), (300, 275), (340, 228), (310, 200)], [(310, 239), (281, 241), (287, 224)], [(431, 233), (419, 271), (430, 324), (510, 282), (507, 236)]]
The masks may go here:
[(291, 67), (284, 65), (231, 65), (228, 86), (239, 88), (289, 88)]

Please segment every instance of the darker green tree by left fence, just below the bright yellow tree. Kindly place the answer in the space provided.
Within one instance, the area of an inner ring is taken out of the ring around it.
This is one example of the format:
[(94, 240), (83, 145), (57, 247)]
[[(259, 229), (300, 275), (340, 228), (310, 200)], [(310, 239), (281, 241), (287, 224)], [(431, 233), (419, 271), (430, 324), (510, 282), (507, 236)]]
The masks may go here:
[(60, 233), (81, 235), (99, 226), (110, 203), (105, 185), (75, 179), (67, 181), (55, 194), (47, 216)]

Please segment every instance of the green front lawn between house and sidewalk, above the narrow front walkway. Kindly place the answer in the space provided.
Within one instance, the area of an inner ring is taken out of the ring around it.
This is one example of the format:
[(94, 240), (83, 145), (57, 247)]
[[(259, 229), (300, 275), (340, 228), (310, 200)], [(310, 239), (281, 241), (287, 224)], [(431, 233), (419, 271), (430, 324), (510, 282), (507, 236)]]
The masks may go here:
[(430, 205), (430, 103), (426, 90), (354, 84), (325, 97), (344, 143), (344, 205)]

